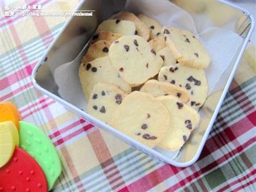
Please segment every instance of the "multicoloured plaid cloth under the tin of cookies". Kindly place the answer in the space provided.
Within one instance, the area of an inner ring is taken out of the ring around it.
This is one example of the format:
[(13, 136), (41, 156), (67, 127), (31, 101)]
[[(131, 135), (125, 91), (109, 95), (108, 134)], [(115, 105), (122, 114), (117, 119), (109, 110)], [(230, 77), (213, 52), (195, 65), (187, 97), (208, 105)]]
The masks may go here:
[[(78, 1), (19, 1), (73, 10)], [(256, 61), (246, 50), (199, 160), (163, 164), (67, 111), (33, 88), (31, 71), (67, 17), (4, 17), (1, 1), (0, 100), (41, 127), (60, 155), (54, 191), (256, 191)], [(26, 12), (28, 10), (20, 11)]]

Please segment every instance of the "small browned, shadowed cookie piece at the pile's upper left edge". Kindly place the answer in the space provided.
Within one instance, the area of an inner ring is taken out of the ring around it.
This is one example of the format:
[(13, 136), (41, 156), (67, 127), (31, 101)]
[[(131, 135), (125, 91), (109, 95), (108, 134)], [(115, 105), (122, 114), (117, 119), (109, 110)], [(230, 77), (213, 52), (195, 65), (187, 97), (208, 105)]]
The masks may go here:
[(108, 51), (110, 47), (110, 43), (106, 40), (99, 40), (92, 44), (86, 54), (83, 57), (82, 62), (88, 63), (90, 61), (93, 61), (97, 58), (102, 58), (104, 56), (108, 56)]

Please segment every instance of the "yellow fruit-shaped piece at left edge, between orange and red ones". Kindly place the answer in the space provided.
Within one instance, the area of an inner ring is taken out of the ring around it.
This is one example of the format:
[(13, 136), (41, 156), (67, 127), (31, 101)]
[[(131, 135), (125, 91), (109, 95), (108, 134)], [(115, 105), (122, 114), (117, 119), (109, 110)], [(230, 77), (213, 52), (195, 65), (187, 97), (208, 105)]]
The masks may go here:
[(0, 168), (12, 157), (15, 145), (19, 146), (19, 134), (13, 122), (0, 123)]

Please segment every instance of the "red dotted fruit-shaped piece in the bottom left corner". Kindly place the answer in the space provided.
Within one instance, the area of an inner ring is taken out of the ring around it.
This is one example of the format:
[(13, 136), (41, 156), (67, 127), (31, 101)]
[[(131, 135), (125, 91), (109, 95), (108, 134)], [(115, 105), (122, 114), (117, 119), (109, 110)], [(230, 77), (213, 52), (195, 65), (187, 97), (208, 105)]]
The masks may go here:
[(12, 159), (0, 168), (0, 191), (47, 191), (43, 170), (22, 148), (16, 147)]

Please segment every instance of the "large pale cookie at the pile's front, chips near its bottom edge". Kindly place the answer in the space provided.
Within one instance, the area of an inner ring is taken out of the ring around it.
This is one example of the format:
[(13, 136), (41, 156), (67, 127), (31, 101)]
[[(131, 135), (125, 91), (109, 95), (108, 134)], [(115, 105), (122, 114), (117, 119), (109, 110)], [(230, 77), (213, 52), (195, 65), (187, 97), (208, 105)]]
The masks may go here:
[(132, 92), (118, 106), (109, 125), (153, 148), (166, 135), (170, 114), (152, 95)]

